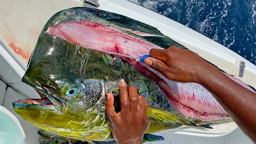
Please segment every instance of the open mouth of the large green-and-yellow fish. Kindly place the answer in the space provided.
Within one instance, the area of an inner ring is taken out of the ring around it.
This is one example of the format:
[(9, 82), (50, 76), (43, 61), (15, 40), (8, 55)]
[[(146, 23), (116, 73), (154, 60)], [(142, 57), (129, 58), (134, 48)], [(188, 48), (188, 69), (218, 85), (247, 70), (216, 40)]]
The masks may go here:
[(12, 103), (13, 107), (42, 107), (44, 110), (51, 110), (55, 113), (64, 113), (66, 110), (66, 105), (59, 99), (45, 95), (43, 92), (36, 90), (41, 99), (23, 99), (17, 100)]

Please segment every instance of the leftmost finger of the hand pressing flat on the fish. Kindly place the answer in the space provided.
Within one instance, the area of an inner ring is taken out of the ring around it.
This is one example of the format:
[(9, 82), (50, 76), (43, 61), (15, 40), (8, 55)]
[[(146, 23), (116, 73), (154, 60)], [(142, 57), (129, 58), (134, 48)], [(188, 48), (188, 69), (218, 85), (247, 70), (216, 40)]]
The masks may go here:
[(114, 104), (113, 94), (108, 93), (107, 100), (106, 100), (106, 113), (110, 121), (113, 121), (113, 118), (117, 115), (113, 104)]

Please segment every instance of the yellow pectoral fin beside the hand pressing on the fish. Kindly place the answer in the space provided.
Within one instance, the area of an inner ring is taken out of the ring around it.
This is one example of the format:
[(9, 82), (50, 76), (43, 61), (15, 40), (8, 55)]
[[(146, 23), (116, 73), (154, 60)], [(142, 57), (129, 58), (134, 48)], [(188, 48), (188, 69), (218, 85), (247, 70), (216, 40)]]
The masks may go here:
[(188, 121), (187, 119), (172, 115), (164, 110), (152, 107), (147, 107), (147, 116), (148, 119), (153, 122), (197, 126), (196, 124)]

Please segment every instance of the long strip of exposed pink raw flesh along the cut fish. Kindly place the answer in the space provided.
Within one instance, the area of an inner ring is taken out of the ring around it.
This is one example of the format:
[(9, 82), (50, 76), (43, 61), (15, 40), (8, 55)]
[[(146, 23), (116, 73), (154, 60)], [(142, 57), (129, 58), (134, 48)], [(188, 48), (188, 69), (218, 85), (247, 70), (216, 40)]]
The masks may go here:
[[(94, 47), (99, 50), (120, 53), (135, 58), (148, 54), (150, 49), (162, 49), (157, 45), (126, 34), (105, 23), (89, 20), (59, 23), (51, 26), (46, 32), (77, 45)], [(140, 34), (139, 31), (136, 31), (136, 33)], [(152, 36), (152, 34), (143, 33), (143, 36)], [(197, 83), (170, 81), (158, 71), (145, 65), (145, 63), (127, 57), (121, 58), (131, 63), (143, 75), (157, 84), (169, 99), (172, 107), (181, 114), (203, 121), (230, 118), (219, 102), (203, 86)], [(239, 79), (226, 75), (253, 91), (250, 86)]]

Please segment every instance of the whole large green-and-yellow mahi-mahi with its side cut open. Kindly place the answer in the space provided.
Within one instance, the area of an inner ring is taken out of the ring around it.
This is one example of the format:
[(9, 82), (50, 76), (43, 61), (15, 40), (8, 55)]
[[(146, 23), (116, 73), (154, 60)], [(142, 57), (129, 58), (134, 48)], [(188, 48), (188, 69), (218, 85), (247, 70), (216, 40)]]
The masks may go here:
[(147, 109), (151, 123), (146, 133), (229, 119), (203, 86), (170, 81), (131, 58), (172, 45), (186, 49), (156, 28), (123, 15), (85, 7), (60, 11), (44, 26), (22, 78), (41, 99), (15, 101), (13, 109), (54, 134), (83, 141), (113, 140), (106, 94), (113, 93), (118, 100), (119, 81), (124, 79), (152, 106)]

